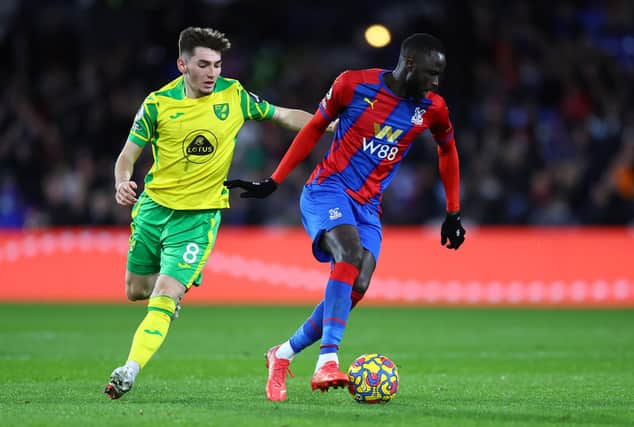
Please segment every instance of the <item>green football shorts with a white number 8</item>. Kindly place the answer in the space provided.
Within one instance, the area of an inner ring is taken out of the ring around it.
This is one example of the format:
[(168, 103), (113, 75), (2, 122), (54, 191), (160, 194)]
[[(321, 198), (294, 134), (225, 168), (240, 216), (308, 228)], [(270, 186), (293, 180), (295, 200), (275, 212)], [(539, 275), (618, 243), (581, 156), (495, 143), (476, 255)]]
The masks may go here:
[(164, 274), (187, 288), (198, 286), (219, 225), (220, 209), (174, 210), (143, 192), (132, 208), (127, 268), (135, 274)]

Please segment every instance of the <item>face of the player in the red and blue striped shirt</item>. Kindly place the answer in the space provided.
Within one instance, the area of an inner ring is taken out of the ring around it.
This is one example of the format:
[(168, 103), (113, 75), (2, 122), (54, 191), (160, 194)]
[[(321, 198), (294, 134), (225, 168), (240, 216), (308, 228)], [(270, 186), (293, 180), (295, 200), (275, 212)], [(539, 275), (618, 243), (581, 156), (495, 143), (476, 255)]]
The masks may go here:
[(408, 65), (405, 76), (408, 95), (422, 98), (428, 91), (438, 89), (440, 75), (445, 71), (447, 62), (444, 54), (433, 50), (426, 55), (418, 55)]

